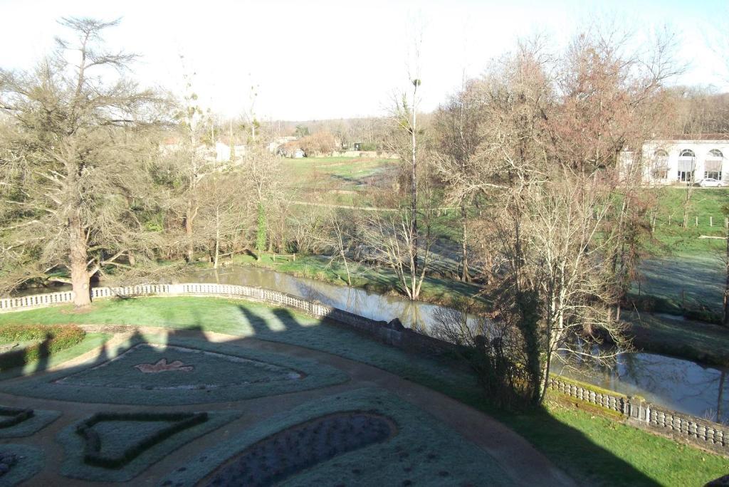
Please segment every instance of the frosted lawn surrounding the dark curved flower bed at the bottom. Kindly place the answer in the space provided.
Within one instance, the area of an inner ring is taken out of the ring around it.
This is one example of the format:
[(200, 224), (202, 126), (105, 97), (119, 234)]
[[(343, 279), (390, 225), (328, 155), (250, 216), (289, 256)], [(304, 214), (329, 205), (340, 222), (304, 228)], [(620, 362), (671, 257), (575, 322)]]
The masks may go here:
[[(496, 461), (472, 443), (442, 426), (431, 416), (396, 400), (378, 389), (359, 389), (336, 397), (326, 397), (298, 406), (268, 421), (255, 424), (245, 434), (227, 440), (190, 462), (180, 472), (172, 472), (165, 481), (168, 485), (194, 486), (226, 459), (246, 450), (270, 435), (284, 431), (313, 418), (343, 411), (362, 411), (390, 418), (397, 424), (397, 435), (381, 443), (363, 445), (362, 448), (335, 456), (331, 461), (310, 459), (308, 470), (281, 486), (508, 486), (510, 478)], [(295, 437), (291, 440), (295, 440)], [(284, 456), (289, 451), (303, 450), (311, 456), (317, 445), (284, 445)], [(295, 458), (291, 458), (292, 461)], [(273, 459), (271, 464), (278, 465)], [(242, 480), (242, 481), (241, 481)], [(243, 485), (245, 477), (235, 485)], [(410, 481), (408, 483), (408, 480)], [(226, 484), (227, 485), (227, 484)], [(233, 485), (233, 484), (230, 484)]]

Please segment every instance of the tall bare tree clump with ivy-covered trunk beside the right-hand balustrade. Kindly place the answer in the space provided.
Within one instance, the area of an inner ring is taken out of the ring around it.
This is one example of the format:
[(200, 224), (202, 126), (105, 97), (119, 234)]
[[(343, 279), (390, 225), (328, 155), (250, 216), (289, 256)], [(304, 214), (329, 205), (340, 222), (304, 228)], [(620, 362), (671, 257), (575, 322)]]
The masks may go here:
[(531, 384), (523, 396), (534, 403), (553, 359), (605, 362), (617, 352), (592, 344), (627, 346), (610, 311), (634, 269), (645, 216), (638, 149), (671, 70), (668, 44), (653, 63), (626, 45), (612, 31), (577, 36), (563, 55), (543, 39), (519, 44), (480, 81), (483, 121), (467, 175), (441, 164), (451, 191), (488, 198), (477, 238), (499, 257), (491, 297), (498, 321), (518, 330)]

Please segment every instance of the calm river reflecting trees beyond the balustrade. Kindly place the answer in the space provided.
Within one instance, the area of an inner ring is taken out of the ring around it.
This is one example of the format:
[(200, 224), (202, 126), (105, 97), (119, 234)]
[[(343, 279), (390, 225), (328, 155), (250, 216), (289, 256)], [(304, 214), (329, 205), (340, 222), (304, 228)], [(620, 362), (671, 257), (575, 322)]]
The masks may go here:
[[(379, 295), (364, 289), (335, 286), (307, 278), (297, 278), (275, 270), (252, 266), (218, 270), (194, 270), (180, 282), (211, 282), (258, 286), (366, 316), (389, 321), (399, 318), (407, 327), (428, 330), (434, 323), (437, 305)], [(52, 290), (58, 290), (52, 289)], [(39, 292), (30, 289), (28, 294)], [(589, 374), (553, 368), (556, 373), (593, 383), (628, 395), (640, 395), (650, 402), (713, 421), (729, 421), (729, 370), (690, 360), (645, 352), (620, 355), (615, 367), (603, 367)]]

